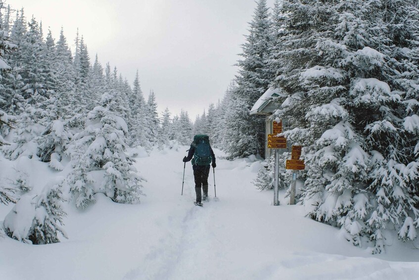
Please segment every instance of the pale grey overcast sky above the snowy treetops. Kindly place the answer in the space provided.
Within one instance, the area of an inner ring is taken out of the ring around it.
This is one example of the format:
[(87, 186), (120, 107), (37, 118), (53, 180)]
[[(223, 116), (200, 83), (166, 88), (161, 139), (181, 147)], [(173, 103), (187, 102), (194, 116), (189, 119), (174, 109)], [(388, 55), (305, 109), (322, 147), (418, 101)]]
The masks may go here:
[[(237, 68), (240, 45), (248, 34), (253, 0), (6, 0), (24, 7), (28, 20), (42, 21), (58, 39), (61, 26), (74, 48), (76, 30), (89, 55), (98, 55), (134, 81), (139, 70), (147, 98), (156, 95), (159, 113), (166, 107), (187, 111), (193, 121), (224, 96)], [(273, 0), (268, 0), (272, 7)]]

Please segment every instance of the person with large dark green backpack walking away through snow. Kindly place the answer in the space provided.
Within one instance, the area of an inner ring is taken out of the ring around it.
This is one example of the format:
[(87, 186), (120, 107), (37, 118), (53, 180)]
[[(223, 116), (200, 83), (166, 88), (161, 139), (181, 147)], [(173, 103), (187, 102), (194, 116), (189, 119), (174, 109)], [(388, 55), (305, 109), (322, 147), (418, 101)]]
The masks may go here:
[[(203, 200), (208, 200), (208, 175), (210, 164), (212, 168), (216, 167), (215, 155), (209, 144), (208, 135), (195, 135), (193, 142), (190, 144), (190, 149), (187, 157), (183, 159), (186, 163), (192, 159), (193, 177), (195, 178), (195, 204), (202, 205), (201, 203), (201, 186), (203, 190)], [(192, 158), (193, 156), (193, 158)]]

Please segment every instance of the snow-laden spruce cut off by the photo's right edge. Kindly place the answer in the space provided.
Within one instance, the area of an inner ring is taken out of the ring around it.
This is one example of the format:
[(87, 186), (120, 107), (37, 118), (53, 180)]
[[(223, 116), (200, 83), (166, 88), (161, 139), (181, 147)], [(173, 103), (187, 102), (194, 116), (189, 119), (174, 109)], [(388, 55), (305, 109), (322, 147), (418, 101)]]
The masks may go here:
[[(368, 224), (371, 238), (377, 244), (376, 252), (383, 248), (382, 230), (389, 224), (395, 225), (398, 237), (403, 241), (414, 240), (418, 236), (417, 5), (412, 0), (386, 1), (380, 6), (382, 24), (374, 24), (374, 41), (379, 46), (376, 49), (385, 55), (386, 61), (383, 64), (385, 72), (382, 80), (391, 90), (379, 96), (370, 93), (372, 98), (379, 101), (379, 108), (375, 107), (375, 112), (379, 113), (365, 126), (366, 141), (373, 150), (372, 183), (369, 190), (375, 195), (376, 206)], [(374, 108), (372, 104), (369, 107)]]

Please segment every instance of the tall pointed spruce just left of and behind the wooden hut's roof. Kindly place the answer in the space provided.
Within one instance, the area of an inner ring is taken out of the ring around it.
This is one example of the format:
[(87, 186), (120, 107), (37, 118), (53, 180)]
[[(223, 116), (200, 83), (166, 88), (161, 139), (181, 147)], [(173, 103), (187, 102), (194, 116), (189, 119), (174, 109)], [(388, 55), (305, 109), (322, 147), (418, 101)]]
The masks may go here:
[(246, 43), (242, 45), (243, 59), (239, 60), (237, 87), (234, 91), (232, 105), (229, 110), (234, 110), (229, 120), (227, 139), (229, 143), (225, 150), (231, 158), (246, 157), (252, 154), (265, 154), (265, 118), (250, 116), (249, 111), (253, 104), (269, 88), (269, 83), (274, 78), (264, 65), (269, 57), (271, 48), (271, 21), (266, 0), (257, 1), (253, 20), (250, 22)]

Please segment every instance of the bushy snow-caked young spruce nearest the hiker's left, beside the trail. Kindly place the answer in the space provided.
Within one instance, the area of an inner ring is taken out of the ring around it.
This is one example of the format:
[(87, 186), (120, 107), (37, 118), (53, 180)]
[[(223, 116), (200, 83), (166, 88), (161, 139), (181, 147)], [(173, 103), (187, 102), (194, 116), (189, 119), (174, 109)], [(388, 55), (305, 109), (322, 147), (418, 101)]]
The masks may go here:
[[(116, 115), (117, 102), (111, 94), (102, 95), (102, 106), (88, 113), (85, 130), (74, 136), (73, 145), (77, 158), (72, 158), (74, 170), (68, 180), (76, 197), (76, 206), (84, 208), (93, 201), (95, 192), (103, 192), (119, 203), (140, 201), (140, 177), (135, 174), (133, 160), (125, 153), (128, 127), (125, 120)], [(103, 184), (93, 187), (94, 170), (104, 171)]]

